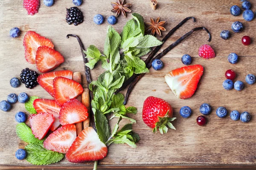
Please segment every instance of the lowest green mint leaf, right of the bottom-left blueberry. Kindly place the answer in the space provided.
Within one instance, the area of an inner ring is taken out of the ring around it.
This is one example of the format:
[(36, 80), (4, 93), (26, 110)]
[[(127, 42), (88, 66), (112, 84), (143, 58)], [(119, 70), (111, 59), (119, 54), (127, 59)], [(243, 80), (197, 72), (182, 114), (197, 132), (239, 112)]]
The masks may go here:
[(47, 150), (43, 144), (28, 144), (26, 160), (35, 165), (47, 165), (61, 161), (65, 154)]

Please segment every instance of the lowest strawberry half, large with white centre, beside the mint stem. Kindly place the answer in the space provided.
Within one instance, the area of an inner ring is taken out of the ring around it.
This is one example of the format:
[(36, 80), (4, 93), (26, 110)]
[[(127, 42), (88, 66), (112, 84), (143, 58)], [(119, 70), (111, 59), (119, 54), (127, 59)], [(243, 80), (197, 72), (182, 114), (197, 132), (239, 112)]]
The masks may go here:
[(87, 127), (76, 137), (66, 154), (68, 161), (82, 163), (105, 158), (108, 147), (100, 141), (93, 127)]

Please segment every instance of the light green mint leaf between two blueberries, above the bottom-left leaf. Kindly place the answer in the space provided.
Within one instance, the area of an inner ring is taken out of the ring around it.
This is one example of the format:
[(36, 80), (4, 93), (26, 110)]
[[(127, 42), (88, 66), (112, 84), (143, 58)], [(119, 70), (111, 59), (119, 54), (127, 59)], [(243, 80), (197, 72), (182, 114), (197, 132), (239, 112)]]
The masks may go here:
[(35, 138), (35, 136), (32, 134), (32, 130), (25, 123), (19, 123), (16, 126), (16, 134), (21, 140), (27, 143), (34, 144), (44, 142), (44, 139), (39, 140), (38, 138)]

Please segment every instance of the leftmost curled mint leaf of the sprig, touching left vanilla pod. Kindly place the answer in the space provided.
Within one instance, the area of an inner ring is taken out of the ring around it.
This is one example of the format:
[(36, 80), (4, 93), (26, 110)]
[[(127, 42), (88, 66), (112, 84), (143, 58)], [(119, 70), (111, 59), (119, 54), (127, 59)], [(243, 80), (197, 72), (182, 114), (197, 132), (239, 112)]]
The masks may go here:
[(90, 69), (93, 69), (94, 65), (99, 60), (106, 60), (106, 57), (102, 56), (98, 48), (94, 45), (90, 45), (84, 53), (87, 55), (86, 58), (89, 59), (89, 62), (87, 62), (85, 65)]

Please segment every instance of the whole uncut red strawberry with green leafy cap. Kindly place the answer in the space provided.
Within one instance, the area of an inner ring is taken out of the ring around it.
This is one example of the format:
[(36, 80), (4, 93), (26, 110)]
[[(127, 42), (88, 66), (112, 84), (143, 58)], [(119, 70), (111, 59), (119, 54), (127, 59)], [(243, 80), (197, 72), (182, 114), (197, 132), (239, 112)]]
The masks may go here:
[[(172, 106), (163, 99), (149, 96), (143, 104), (142, 119), (148, 127), (153, 128), (153, 132), (167, 133), (169, 126), (171, 129), (175, 127), (170, 123), (176, 117), (172, 118)], [(167, 126), (166, 126), (167, 125)]]

